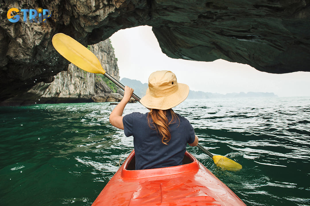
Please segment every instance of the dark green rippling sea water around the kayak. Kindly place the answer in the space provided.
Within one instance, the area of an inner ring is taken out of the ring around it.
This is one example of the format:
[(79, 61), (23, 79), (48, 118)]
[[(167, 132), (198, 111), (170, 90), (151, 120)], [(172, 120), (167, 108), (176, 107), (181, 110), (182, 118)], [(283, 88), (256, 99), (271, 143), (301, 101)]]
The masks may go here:
[[(91, 205), (133, 149), (109, 103), (0, 107), (0, 205)], [(310, 98), (186, 100), (200, 144), (239, 162), (203, 165), (247, 205), (310, 205)], [(124, 113), (147, 112), (139, 103)]]

